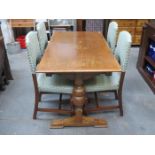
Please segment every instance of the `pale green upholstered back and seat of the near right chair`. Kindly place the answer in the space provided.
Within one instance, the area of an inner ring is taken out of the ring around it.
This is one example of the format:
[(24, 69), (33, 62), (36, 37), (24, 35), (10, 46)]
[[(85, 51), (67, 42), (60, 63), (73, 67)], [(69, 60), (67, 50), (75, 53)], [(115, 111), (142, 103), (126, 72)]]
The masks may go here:
[[(124, 72), (127, 69), (131, 42), (131, 35), (128, 32), (122, 31), (119, 33), (115, 52)], [(113, 72), (111, 76), (105, 74), (97, 75), (93, 79), (86, 81), (86, 90), (88, 92), (118, 90), (120, 85), (120, 75), (121, 73), (119, 72)]]

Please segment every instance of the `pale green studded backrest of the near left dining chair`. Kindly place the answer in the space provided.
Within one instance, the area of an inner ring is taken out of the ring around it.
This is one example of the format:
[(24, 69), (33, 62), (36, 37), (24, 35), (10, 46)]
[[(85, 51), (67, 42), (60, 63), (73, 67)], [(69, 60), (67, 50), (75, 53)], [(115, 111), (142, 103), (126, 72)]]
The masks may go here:
[(32, 73), (35, 73), (37, 62), (41, 57), (37, 32), (29, 32), (26, 35), (26, 46), (28, 50), (28, 59)]

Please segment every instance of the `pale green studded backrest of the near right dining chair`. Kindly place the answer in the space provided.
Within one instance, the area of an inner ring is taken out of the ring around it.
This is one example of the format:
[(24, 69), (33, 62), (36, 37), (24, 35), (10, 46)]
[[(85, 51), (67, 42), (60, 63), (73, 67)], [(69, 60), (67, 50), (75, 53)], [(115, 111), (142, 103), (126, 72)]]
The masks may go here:
[(120, 62), (122, 70), (125, 72), (128, 65), (132, 38), (129, 32), (121, 31), (118, 36), (117, 46), (115, 49), (115, 56)]

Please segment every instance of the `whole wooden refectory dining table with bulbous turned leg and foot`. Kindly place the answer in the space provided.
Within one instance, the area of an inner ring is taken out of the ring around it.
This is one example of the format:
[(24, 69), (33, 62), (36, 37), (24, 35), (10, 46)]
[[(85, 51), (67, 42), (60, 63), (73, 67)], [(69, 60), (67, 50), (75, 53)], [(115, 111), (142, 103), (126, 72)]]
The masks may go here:
[(120, 72), (121, 67), (99, 32), (54, 32), (37, 66), (38, 73), (63, 74), (74, 80), (70, 102), (74, 116), (54, 120), (51, 128), (64, 126), (107, 127), (105, 119), (85, 116), (87, 104), (84, 82), (97, 74)]

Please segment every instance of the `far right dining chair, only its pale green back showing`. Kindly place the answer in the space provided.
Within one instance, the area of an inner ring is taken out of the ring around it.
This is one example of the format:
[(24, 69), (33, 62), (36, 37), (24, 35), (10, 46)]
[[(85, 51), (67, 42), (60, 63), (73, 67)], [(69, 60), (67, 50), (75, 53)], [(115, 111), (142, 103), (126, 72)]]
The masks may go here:
[(116, 46), (116, 38), (117, 38), (118, 24), (117, 22), (110, 22), (107, 32), (107, 42), (109, 47), (112, 49), (114, 54), (115, 46)]

